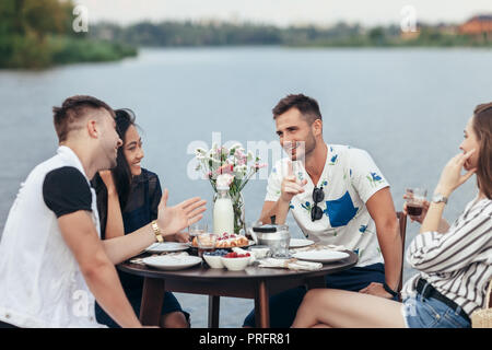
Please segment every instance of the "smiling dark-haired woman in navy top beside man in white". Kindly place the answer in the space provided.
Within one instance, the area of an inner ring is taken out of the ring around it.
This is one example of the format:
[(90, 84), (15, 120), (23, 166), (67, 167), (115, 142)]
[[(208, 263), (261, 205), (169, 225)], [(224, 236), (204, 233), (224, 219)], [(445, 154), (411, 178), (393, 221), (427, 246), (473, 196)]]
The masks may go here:
[[(103, 240), (131, 233), (157, 217), (162, 197), (156, 174), (141, 167), (142, 139), (130, 109), (117, 109), (116, 125), (124, 144), (118, 149), (117, 165), (112, 171), (99, 172), (93, 179), (97, 195), (97, 209)], [(178, 233), (174, 241), (188, 242), (187, 233)], [(173, 241), (167, 238), (166, 241)], [(137, 315), (142, 300), (143, 278), (119, 271), (125, 292)], [(96, 304), (96, 318), (109, 327), (118, 325)], [(171, 292), (164, 295), (161, 326), (166, 328), (189, 327), (189, 314)]]

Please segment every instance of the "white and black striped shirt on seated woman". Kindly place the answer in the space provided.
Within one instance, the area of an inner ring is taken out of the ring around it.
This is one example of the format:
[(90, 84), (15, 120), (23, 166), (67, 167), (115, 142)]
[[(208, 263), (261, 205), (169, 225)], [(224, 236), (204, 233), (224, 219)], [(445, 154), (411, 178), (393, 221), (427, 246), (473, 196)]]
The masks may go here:
[(468, 314), (485, 307), (492, 278), (492, 200), (475, 199), (446, 233), (419, 234), (406, 253), (420, 272), (410, 278), (402, 298), (414, 295), (419, 278), (453, 300)]

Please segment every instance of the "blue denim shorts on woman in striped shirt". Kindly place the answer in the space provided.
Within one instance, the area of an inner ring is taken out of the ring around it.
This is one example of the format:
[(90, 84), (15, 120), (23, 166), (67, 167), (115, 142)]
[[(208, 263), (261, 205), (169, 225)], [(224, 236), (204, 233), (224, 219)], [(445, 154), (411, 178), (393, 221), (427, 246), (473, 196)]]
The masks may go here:
[(402, 314), (408, 328), (470, 328), (470, 322), (445, 303), (420, 293), (403, 300)]

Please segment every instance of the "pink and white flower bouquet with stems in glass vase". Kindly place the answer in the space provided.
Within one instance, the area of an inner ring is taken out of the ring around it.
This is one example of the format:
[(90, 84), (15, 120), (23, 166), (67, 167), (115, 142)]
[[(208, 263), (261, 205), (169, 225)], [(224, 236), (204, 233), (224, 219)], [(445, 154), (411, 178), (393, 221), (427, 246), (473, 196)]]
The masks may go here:
[(196, 171), (203, 172), (215, 194), (218, 177), (222, 175), (221, 178), (226, 179), (234, 209), (234, 233), (246, 233), (244, 199), (241, 191), (258, 170), (267, 164), (259, 164), (260, 159), (255, 158), (250, 151), (246, 154), (241, 144), (227, 149), (214, 143), (211, 150), (198, 148), (195, 154), (198, 161)]

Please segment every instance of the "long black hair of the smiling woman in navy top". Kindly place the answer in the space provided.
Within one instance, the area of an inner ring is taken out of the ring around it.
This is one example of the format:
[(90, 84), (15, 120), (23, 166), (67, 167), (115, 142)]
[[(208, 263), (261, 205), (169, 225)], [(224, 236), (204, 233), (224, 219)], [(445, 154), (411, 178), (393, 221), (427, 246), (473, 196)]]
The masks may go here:
[[(125, 136), (128, 128), (130, 126), (137, 127), (137, 125), (134, 124), (136, 116), (134, 113), (128, 108), (116, 109), (115, 114), (116, 131), (118, 132), (118, 136), (122, 140), (125, 145)], [(124, 154), (124, 145), (118, 149), (116, 166), (112, 170), (115, 187), (118, 191), (119, 206), (121, 208), (121, 211), (124, 211), (127, 206), (131, 189), (131, 171)], [(96, 175), (94, 176), (92, 184), (97, 195), (97, 210), (99, 212), (101, 219), (101, 234), (104, 237), (107, 220), (107, 189), (98, 173), (96, 173)]]

